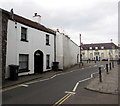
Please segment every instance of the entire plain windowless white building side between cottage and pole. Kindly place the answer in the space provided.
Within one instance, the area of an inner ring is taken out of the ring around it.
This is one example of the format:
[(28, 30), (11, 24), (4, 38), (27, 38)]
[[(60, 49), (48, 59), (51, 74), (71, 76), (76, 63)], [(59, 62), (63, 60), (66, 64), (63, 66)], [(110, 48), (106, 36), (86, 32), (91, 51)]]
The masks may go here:
[(79, 63), (80, 48), (68, 35), (56, 32), (56, 61), (60, 69), (69, 68)]

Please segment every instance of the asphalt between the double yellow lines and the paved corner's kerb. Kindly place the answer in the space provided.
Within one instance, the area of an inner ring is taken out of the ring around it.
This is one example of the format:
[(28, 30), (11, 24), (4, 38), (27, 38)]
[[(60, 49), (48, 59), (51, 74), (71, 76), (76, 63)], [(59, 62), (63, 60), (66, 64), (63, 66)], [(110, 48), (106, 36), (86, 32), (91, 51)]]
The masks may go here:
[(89, 82), (90, 80), (80, 83), (76, 90), (76, 94), (70, 96), (62, 104), (79, 104), (80, 106), (83, 104), (102, 104), (100, 106), (103, 106), (103, 104), (109, 104), (107, 106), (118, 106), (114, 105), (118, 104), (118, 95), (104, 94), (84, 89)]

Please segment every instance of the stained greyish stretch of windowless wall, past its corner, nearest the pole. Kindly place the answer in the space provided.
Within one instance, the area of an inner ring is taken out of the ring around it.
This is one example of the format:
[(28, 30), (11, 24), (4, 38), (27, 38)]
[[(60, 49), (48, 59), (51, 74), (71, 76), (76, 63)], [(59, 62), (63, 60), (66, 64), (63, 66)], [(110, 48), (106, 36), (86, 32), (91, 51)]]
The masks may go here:
[(69, 68), (77, 64), (77, 55), (80, 53), (79, 50), (80, 50), (79, 46), (73, 43), (73, 41), (71, 41), (69, 37), (65, 35), (63, 36), (63, 56), (64, 56), (63, 67), (64, 68)]

